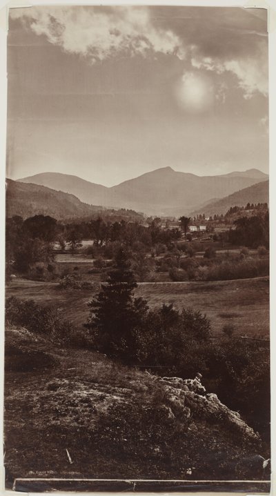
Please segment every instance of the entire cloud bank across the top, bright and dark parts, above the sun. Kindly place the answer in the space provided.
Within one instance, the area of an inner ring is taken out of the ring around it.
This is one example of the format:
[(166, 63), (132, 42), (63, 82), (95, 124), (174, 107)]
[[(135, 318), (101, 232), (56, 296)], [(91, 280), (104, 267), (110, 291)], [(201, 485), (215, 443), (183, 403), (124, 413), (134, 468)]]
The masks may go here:
[(184, 70), (213, 72), (219, 87), (216, 99), (224, 102), (228, 88), (222, 76), (227, 72), (235, 76), (244, 99), (268, 95), (266, 19), (264, 12), (256, 17), (255, 11), (43, 6), (12, 8), (10, 17), (89, 63), (118, 56), (173, 55), (183, 61)]

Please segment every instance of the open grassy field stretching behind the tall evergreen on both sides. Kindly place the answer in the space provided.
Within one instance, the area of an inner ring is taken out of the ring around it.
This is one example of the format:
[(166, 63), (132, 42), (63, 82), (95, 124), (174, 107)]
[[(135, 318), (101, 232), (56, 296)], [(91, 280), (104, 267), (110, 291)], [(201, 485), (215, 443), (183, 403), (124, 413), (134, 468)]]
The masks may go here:
[[(95, 277), (93, 277), (95, 279)], [(63, 317), (77, 326), (86, 322), (91, 290), (61, 290), (57, 283), (14, 279), (6, 289), (7, 296), (34, 299), (41, 304), (55, 304)], [(269, 279), (234, 281), (140, 283), (136, 295), (150, 306), (173, 304), (191, 307), (210, 318), (218, 334), (225, 324), (233, 324), (235, 333), (269, 337)]]

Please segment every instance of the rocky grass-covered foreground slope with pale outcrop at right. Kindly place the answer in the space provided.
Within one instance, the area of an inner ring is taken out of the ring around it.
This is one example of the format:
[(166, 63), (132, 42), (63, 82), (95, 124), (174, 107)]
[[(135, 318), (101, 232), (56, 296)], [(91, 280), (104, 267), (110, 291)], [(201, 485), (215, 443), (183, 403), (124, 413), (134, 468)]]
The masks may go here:
[(259, 435), (191, 383), (8, 328), (7, 486), (15, 477), (261, 479)]

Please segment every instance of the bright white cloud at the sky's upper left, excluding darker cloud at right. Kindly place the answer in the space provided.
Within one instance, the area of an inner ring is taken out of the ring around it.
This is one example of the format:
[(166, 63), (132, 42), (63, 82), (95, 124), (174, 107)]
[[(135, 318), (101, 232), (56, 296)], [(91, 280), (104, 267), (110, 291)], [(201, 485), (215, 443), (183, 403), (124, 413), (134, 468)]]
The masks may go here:
[(91, 62), (116, 54), (134, 56), (161, 52), (184, 59), (183, 43), (172, 30), (155, 26), (148, 8), (34, 7), (10, 10), (37, 35), (65, 52), (80, 54)]

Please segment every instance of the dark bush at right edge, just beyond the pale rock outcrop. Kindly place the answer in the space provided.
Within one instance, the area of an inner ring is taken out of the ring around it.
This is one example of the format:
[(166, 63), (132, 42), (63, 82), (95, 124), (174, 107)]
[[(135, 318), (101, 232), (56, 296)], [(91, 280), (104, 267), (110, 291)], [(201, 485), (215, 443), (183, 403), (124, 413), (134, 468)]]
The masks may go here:
[[(246, 422), (269, 438), (269, 348), (259, 341), (232, 337), (221, 340), (209, 356), (208, 377), (219, 399), (239, 410)], [(206, 378), (208, 388), (208, 379)]]

